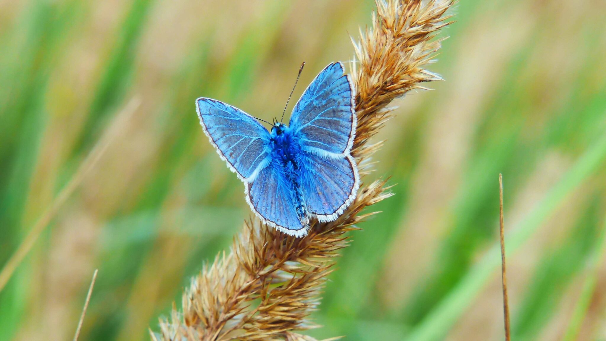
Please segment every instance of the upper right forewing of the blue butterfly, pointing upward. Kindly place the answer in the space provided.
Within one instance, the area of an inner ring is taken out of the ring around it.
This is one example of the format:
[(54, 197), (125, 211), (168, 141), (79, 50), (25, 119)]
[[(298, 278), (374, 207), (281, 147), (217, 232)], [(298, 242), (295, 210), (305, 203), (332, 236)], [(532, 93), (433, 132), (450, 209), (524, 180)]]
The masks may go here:
[(333, 63), (311, 82), (293, 108), (290, 127), (303, 150), (347, 154), (356, 129), (354, 93), (343, 65)]

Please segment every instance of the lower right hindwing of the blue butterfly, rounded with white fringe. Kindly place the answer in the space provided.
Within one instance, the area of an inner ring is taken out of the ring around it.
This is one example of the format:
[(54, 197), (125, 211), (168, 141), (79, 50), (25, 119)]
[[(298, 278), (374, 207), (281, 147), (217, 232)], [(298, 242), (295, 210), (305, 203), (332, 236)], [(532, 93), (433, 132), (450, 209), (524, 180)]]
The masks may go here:
[(301, 172), (307, 211), (321, 222), (336, 220), (356, 197), (358, 168), (350, 155), (322, 157), (309, 154)]

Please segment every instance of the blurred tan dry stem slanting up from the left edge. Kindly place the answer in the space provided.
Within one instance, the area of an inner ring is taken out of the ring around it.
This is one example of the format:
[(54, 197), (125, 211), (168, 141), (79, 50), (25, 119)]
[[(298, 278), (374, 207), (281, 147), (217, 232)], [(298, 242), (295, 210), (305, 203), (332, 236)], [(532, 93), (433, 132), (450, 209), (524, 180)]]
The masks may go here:
[(136, 111), (139, 104), (141, 104), (139, 98), (133, 98), (128, 102), (124, 110), (116, 116), (116, 119), (110, 128), (105, 131), (104, 136), (99, 139), (99, 142), (96, 143), (95, 147), (90, 151), (86, 159), (84, 159), (78, 170), (76, 170), (76, 173), (72, 176), (72, 179), (70, 179), (67, 185), (61, 189), (61, 192), (59, 192), (59, 195), (53, 200), (50, 207), (48, 207), (36, 221), (32, 230), (29, 231), (15, 253), (10, 256), (8, 262), (2, 267), (2, 271), (0, 271), (0, 291), (4, 289), (4, 286), (8, 283), (10, 277), (13, 276), (17, 267), (21, 264), (21, 261), (27, 256), (29, 251), (32, 250), (33, 245), (36, 243), (36, 240), (38, 240), (42, 231), (44, 231), (48, 224), (53, 220), (67, 199), (72, 196), (73, 192), (82, 183), (82, 180), (84, 180), (84, 177), (88, 172), (95, 167), (109, 145), (114, 141), (119, 131), (125, 127), (125, 122), (128, 121), (130, 116)]

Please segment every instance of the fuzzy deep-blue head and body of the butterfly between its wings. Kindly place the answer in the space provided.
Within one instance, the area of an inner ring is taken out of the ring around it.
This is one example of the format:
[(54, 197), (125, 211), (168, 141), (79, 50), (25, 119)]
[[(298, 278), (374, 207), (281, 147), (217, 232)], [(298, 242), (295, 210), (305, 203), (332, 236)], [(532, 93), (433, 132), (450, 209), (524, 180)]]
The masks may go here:
[(305, 208), (305, 200), (299, 186), (299, 168), (302, 162), (301, 145), (293, 130), (282, 123), (271, 127), (270, 140), (273, 159), (280, 164), (284, 176), (289, 182), (287, 184), (289, 190), (295, 197), (297, 215), (303, 223), (307, 223), (307, 208)]

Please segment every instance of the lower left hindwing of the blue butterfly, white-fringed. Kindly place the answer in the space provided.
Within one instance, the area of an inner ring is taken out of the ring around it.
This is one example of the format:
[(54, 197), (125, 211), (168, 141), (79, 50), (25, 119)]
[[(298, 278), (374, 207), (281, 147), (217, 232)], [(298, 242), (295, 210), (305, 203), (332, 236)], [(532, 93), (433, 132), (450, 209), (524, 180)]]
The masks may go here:
[(307, 234), (307, 215), (299, 217), (295, 199), (281, 167), (270, 164), (259, 171), (259, 175), (246, 185), (246, 200), (267, 225), (290, 234)]

